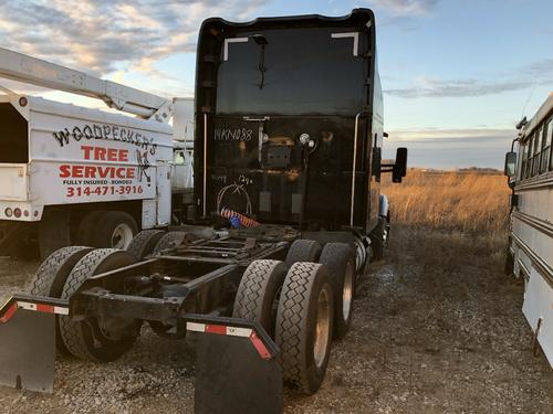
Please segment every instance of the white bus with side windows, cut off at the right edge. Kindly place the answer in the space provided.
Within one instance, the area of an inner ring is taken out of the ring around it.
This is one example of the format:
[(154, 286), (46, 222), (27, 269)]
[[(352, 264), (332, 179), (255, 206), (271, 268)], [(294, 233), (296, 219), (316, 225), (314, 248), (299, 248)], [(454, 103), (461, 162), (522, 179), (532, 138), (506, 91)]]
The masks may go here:
[(512, 189), (508, 270), (524, 278), (522, 311), (553, 367), (553, 93), (505, 157)]

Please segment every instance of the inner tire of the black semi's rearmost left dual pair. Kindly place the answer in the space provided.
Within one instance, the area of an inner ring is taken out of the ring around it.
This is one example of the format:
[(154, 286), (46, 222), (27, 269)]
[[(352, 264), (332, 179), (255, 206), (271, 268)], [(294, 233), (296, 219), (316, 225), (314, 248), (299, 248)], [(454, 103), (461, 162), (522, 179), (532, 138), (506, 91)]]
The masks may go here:
[[(133, 255), (114, 248), (97, 248), (79, 261), (63, 286), (62, 299), (70, 299), (93, 275), (136, 263)], [(69, 316), (60, 317), (60, 332), (67, 350), (75, 357), (96, 361), (114, 361), (127, 352), (137, 335), (108, 338), (97, 319), (72, 321)], [(138, 329), (136, 329), (138, 331)]]

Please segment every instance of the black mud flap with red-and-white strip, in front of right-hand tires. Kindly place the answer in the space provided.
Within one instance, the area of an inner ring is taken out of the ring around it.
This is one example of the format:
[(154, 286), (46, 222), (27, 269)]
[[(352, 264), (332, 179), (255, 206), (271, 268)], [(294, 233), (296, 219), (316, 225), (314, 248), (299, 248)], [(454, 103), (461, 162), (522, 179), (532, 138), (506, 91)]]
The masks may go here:
[(196, 414), (282, 413), (278, 348), (257, 322), (186, 316), (196, 347)]

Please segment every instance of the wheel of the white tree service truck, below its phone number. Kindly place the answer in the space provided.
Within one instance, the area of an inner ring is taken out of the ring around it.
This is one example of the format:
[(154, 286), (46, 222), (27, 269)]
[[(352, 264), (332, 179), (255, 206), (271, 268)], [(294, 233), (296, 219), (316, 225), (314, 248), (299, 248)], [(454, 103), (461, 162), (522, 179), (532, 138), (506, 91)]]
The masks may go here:
[(136, 233), (138, 226), (131, 214), (124, 211), (107, 211), (97, 219), (92, 245), (125, 250)]

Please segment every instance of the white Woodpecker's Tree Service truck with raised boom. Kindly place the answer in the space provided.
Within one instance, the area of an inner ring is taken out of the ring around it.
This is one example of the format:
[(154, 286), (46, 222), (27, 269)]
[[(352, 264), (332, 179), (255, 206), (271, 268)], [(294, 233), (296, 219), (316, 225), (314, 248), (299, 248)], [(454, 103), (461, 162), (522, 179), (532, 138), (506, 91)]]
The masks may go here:
[(4, 49), (0, 77), (100, 98), (136, 116), (0, 96), (0, 255), (46, 257), (71, 244), (125, 248), (138, 230), (182, 219), (187, 209), (171, 212), (171, 193), (181, 204), (191, 199), (184, 129), (192, 99), (161, 98)]

